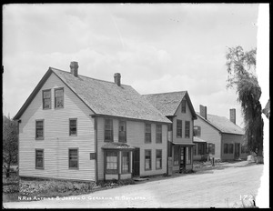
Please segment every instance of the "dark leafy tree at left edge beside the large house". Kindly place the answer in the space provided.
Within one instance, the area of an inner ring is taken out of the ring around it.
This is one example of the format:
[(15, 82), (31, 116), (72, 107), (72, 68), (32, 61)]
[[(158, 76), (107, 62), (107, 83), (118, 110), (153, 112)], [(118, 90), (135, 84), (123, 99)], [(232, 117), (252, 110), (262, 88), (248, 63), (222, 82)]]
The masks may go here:
[(3, 116), (3, 167), (5, 176), (10, 176), (12, 165), (17, 164), (18, 159), (18, 132), (17, 122)]

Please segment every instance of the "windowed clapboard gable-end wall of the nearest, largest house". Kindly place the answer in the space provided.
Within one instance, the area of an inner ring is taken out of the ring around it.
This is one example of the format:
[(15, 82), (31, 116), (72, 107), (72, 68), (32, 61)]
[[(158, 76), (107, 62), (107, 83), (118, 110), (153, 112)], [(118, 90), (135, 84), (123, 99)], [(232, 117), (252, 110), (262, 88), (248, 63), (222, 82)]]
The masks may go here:
[[(54, 89), (64, 87), (64, 108), (55, 108)], [(43, 109), (42, 90), (51, 89), (51, 109)], [(21, 116), (19, 124), (20, 176), (95, 180), (94, 119), (91, 110), (55, 75), (43, 87)], [(77, 136), (69, 136), (69, 118), (77, 119)], [(44, 119), (44, 140), (35, 140), (35, 120)], [(35, 169), (35, 148), (44, 149), (45, 168)], [(78, 169), (68, 168), (68, 149), (78, 148)]]

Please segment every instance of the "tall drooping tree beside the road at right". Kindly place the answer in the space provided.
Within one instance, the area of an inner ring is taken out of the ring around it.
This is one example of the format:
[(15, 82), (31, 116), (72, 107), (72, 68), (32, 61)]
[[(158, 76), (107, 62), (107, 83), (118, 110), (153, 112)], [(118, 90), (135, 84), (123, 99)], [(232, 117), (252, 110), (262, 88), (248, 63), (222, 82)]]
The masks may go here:
[(248, 149), (255, 152), (258, 162), (263, 162), (263, 119), (259, 102), (261, 88), (256, 76), (257, 49), (244, 52), (241, 46), (228, 48), (227, 88), (236, 87), (245, 123), (245, 140)]

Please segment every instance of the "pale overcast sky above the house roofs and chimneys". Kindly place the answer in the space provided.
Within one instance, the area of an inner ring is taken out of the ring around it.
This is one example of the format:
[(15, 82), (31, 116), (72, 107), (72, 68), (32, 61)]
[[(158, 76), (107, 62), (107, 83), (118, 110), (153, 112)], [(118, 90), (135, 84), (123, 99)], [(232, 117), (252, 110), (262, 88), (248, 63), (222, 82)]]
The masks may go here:
[(257, 46), (258, 4), (3, 6), (3, 111), (15, 116), (49, 66), (122, 84), (140, 94), (187, 90), (196, 112), (229, 118), (227, 46)]

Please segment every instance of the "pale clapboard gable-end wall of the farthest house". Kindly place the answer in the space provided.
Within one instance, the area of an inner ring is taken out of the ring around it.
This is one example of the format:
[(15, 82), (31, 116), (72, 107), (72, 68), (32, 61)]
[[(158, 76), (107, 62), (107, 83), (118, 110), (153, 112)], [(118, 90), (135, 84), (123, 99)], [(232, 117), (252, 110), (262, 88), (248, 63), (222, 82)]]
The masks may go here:
[(207, 143), (215, 144), (215, 155), (213, 157), (221, 159), (221, 134), (213, 126), (209, 126), (207, 122), (197, 116), (197, 120), (194, 122), (194, 126), (201, 127), (200, 138), (207, 141)]

